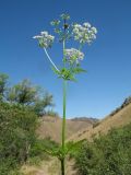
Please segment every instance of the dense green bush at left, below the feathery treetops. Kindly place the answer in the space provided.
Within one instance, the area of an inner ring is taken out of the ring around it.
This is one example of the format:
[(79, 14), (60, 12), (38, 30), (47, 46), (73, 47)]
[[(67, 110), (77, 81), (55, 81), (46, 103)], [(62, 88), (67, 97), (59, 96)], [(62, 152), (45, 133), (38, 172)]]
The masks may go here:
[(27, 161), (37, 124), (37, 116), (27, 107), (0, 103), (0, 175), (9, 175)]

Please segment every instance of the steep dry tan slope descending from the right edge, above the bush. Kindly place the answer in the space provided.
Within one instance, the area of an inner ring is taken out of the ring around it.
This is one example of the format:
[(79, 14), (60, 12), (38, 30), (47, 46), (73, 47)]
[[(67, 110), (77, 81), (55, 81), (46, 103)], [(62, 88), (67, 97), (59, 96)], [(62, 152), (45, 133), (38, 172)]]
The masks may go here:
[(131, 103), (119, 109), (114, 115), (111, 114), (105, 117), (103, 120), (98, 121), (97, 125), (94, 125), (94, 127), (79, 131), (70, 137), (69, 140), (91, 140), (93, 137), (97, 137), (99, 133), (107, 133), (111, 128), (124, 126), (129, 122), (131, 122)]

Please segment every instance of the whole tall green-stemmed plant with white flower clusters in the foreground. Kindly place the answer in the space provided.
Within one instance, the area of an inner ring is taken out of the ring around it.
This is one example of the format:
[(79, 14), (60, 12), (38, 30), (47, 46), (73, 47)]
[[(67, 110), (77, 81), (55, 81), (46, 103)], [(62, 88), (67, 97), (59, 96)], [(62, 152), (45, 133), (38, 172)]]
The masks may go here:
[[(55, 36), (50, 35), (48, 32), (40, 32), (39, 35), (33, 38), (38, 40), (39, 47), (41, 47), (52, 66), (53, 72), (63, 80), (63, 118), (62, 118), (62, 136), (61, 145), (57, 149), (45, 151), (49, 154), (57, 156), (61, 162), (61, 175), (64, 175), (64, 162), (66, 156), (75, 147), (75, 143), (66, 142), (66, 105), (67, 105), (67, 82), (75, 81), (75, 74), (85, 72), (81, 68), (81, 61), (84, 59), (84, 54), (82, 52), (84, 45), (91, 45), (96, 39), (97, 30), (90, 23), (85, 22), (83, 24), (70, 23), (69, 14), (61, 14), (59, 20), (53, 20), (50, 22), (53, 27), (56, 36), (58, 36), (59, 43), (62, 44), (62, 67), (56, 66), (53, 60), (48, 54), (48, 49), (52, 47), (55, 42)], [(78, 48), (68, 48), (69, 40), (78, 42)]]

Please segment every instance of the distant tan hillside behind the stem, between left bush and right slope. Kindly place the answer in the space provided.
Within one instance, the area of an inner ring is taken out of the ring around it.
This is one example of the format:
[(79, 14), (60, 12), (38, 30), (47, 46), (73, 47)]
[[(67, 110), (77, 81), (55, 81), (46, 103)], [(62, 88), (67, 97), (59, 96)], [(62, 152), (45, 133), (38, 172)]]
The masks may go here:
[[(96, 120), (92, 118), (67, 119), (67, 138), (85, 128), (92, 128)], [(60, 142), (61, 124), (62, 119), (60, 117), (45, 116), (40, 118), (40, 126), (37, 132), (40, 138), (50, 137), (52, 140)]]

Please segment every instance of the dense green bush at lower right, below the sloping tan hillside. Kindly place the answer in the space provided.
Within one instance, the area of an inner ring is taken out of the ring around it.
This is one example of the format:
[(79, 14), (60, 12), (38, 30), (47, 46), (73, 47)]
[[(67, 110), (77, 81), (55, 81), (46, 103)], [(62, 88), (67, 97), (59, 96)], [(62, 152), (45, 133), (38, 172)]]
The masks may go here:
[(131, 124), (85, 142), (75, 160), (79, 175), (131, 175)]

